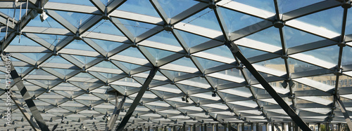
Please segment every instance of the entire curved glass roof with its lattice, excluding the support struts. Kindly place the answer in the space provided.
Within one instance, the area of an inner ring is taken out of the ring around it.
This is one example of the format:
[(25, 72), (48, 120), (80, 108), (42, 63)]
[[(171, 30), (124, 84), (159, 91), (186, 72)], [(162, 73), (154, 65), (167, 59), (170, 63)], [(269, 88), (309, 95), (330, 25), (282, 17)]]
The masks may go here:
[[(50, 129), (105, 130), (115, 92), (127, 95), (118, 125), (153, 66), (160, 69), (127, 128), (291, 121), (246, 67), (236, 68), (226, 39), (306, 123), (346, 123), (332, 108), (335, 88), (352, 113), (352, 13), (338, 0), (217, 0), (216, 8), (208, 0), (49, 0), (44, 21), (36, 3), (0, 1), (0, 43)], [(295, 85), (284, 88), (287, 78)], [(15, 124), (3, 129), (29, 130), (11, 105)]]

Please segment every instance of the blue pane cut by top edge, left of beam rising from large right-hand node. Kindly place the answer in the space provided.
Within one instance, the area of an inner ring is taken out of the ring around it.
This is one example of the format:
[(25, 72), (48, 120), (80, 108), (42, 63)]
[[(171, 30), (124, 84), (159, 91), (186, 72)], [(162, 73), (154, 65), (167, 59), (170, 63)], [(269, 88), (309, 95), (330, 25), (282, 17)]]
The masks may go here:
[(250, 0), (250, 1), (234, 0), (234, 1), (275, 13), (274, 1), (271, 1), (271, 0)]

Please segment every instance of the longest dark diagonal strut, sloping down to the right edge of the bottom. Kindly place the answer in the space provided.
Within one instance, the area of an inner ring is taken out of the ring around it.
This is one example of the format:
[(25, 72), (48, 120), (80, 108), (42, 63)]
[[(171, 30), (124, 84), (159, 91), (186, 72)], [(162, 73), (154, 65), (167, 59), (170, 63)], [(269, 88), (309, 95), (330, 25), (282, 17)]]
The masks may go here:
[(294, 109), (291, 109), (291, 107), (284, 101), (284, 99), (282, 99), (282, 97), (277, 94), (275, 89), (271, 87), (268, 81), (266, 81), (265, 78), (263, 78), (263, 76), (261, 76), (259, 72), (253, 67), (249, 60), (244, 57), (244, 55), (239, 50), (239, 47), (234, 42), (227, 42), (226, 46), (230, 48), (234, 57), (237, 57), (239, 60), (241, 60), (242, 64), (244, 64), (246, 69), (251, 72), (251, 74), (257, 79), (260, 85), (262, 85), (263, 88), (267, 90), (267, 92), (272, 96), (272, 98), (275, 99), (277, 104), (279, 104), (279, 106), (281, 106), (282, 109), (284, 109), (284, 111), (291, 117), (291, 119), (294, 120), (294, 122), (298, 124), (302, 130), (310, 130), (308, 125), (297, 115)]

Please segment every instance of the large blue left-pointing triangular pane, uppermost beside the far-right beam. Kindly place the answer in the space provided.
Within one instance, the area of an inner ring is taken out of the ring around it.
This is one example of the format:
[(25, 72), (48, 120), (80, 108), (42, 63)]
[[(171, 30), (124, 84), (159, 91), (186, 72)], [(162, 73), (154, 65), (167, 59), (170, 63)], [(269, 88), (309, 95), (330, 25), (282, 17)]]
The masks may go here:
[(306, 22), (310, 25), (328, 29), (332, 32), (341, 32), (342, 27), (342, 15), (344, 14), (344, 8), (335, 7), (318, 13), (297, 18), (301, 22)]

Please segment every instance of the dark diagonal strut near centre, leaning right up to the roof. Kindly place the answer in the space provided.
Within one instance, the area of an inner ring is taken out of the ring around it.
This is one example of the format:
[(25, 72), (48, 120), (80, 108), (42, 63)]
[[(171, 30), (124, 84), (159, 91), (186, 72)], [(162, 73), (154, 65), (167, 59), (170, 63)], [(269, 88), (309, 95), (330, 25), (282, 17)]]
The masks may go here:
[(134, 112), (134, 109), (136, 109), (137, 105), (139, 104), (139, 101), (142, 99), (144, 92), (146, 92), (146, 89), (148, 88), (149, 83), (151, 83), (151, 81), (153, 80), (158, 69), (159, 69), (159, 67), (153, 67), (153, 69), (151, 69), (149, 76), (146, 78), (146, 81), (144, 81), (137, 96), (134, 98), (134, 101), (132, 102), (130, 109), (128, 109), (128, 111), (127, 111), (125, 117), (122, 119), (120, 125), (118, 125), (118, 127), (116, 127), (116, 131), (122, 131), (125, 128), (125, 125), (127, 124), (128, 120), (130, 120), (132, 113)]

